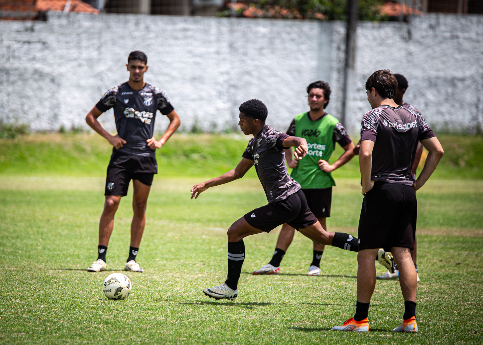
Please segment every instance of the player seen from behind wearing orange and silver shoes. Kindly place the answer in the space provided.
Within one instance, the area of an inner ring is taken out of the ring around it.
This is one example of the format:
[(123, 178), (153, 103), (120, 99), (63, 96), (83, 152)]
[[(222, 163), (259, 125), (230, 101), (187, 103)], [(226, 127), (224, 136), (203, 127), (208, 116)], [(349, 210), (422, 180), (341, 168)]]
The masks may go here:
[[(369, 331), (369, 302), (376, 284), (374, 255), (386, 248), (394, 255), (404, 298), (403, 322), (395, 332), (417, 332), (416, 269), (411, 259), (416, 233), (415, 191), (423, 187), (442, 155), (440, 142), (423, 116), (396, 104), (398, 81), (388, 70), (374, 72), (366, 82), (372, 110), (362, 118), (359, 166), (362, 209), (359, 220), (357, 302), (354, 317), (337, 331)], [(418, 141), (429, 151), (417, 180), (412, 162)]]

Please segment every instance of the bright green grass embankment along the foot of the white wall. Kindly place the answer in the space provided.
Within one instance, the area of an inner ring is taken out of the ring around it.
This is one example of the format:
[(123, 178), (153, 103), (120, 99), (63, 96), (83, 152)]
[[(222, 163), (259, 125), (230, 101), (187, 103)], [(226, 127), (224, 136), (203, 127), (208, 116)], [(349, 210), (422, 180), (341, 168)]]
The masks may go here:
[[(438, 135), (445, 154), (433, 178), (483, 178), (483, 136)], [(248, 137), (175, 134), (156, 151), (160, 176), (216, 176), (241, 159)], [(336, 144), (331, 161), (341, 155)], [(17, 176), (104, 176), (112, 146), (97, 134), (34, 134), (0, 139), (0, 174)], [(333, 173), (359, 177), (354, 158)], [(251, 169), (248, 176), (255, 177)]]

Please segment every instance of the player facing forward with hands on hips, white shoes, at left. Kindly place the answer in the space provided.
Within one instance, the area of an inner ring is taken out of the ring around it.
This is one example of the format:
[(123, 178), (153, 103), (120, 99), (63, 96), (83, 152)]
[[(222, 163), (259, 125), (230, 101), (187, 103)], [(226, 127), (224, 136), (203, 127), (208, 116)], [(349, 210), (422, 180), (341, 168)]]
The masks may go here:
[[(114, 228), (114, 215), (121, 198), (128, 195), (132, 179), (134, 195), (131, 223), (131, 244), (126, 271), (142, 272), (136, 262), (146, 224), (146, 202), (157, 173), (156, 148), (161, 148), (180, 125), (180, 119), (168, 97), (156, 86), (144, 82), (148, 70), (147, 57), (141, 51), (129, 54), (126, 67), (129, 80), (107, 91), (85, 117), (87, 124), (106, 138), (113, 147), (111, 161), (107, 167), (104, 211), (99, 222), (98, 258), (87, 269), (88, 272), (104, 271), (109, 238)], [(97, 118), (114, 108), (117, 134), (111, 135), (102, 128)], [(170, 119), (170, 125), (159, 141), (154, 138), (156, 111)]]

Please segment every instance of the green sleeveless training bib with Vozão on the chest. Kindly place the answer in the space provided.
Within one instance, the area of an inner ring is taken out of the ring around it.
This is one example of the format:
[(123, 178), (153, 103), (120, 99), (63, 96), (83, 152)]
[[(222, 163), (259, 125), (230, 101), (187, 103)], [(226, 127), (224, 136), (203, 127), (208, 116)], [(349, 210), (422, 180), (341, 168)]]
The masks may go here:
[(312, 121), (309, 113), (295, 116), (295, 136), (305, 138), (309, 144), (309, 153), (298, 161), (297, 168), (292, 170), (290, 176), (296, 180), (303, 189), (328, 188), (335, 186), (331, 173), (320, 170), (319, 159), (329, 160), (334, 151), (332, 136), (339, 120), (332, 115)]

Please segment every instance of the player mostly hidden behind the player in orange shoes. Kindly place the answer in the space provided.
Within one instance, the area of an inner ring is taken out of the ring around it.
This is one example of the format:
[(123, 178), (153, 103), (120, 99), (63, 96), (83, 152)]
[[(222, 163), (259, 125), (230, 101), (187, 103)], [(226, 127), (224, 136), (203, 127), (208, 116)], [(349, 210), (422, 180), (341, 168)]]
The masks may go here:
[[(396, 94), (394, 95), (394, 102), (396, 104), (399, 104), (403, 108), (411, 109), (412, 111), (421, 115), (419, 110), (417, 110), (414, 105), (406, 103), (405, 101), (402, 100), (402, 97), (406, 93), (406, 90), (408, 89), (408, 86), (409, 86), (408, 80), (402, 74), (395, 73), (394, 76), (396, 77), (396, 80), (398, 81), (398, 88), (396, 89)], [(421, 142), (418, 141), (416, 153), (414, 154), (414, 161), (412, 162), (412, 176), (414, 178), (416, 178), (416, 170), (418, 168), (419, 161), (421, 160), (422, 154), (423, 154), (423, 144), (421, 144)], [(418, 265), (416, 263), (416, 256), (417, 256), (417, 236), (414, 237), (414, 249), (411, 250), (411, 258), (412, 258), (412, 262), (414, 262), (414, 267), (416, 267), (416, 280), (419, 283), (419, 274), (418, 274)], [(399, 277), (399, 271), (398, 270), (395, 270), (394, 273), (387, 271), (383, 275), (377, 275), (376, 276), (377, 279), (394, 279), (394, 278), (398, 278), (398, 277)]]

